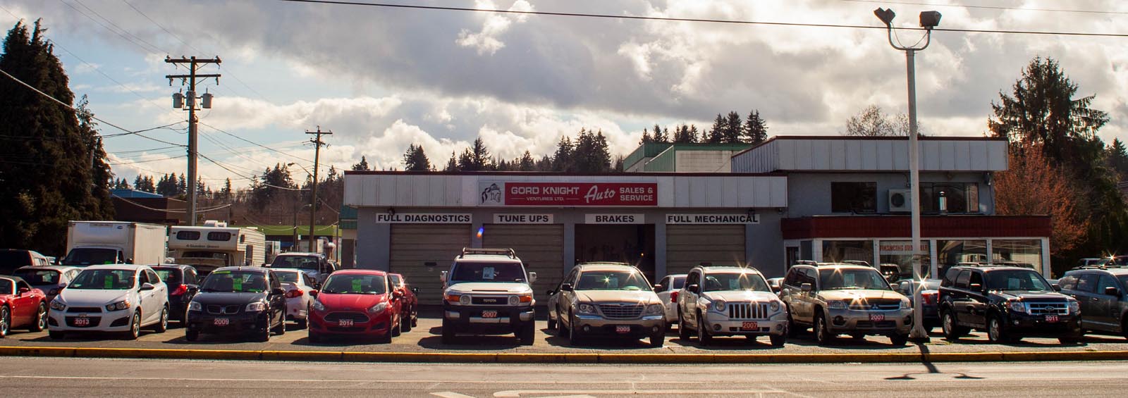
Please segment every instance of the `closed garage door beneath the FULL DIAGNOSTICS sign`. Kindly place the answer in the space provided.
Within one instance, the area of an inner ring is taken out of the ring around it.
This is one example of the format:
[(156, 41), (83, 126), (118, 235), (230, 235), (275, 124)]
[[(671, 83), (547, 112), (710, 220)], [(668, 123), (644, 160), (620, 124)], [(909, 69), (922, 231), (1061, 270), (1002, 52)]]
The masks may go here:
[(464, 247), (470, 247), (469, 224), (393, 224), (390, 269), (420, 289), (420, 303), (441, 304), (439, 274), (450, 269)]

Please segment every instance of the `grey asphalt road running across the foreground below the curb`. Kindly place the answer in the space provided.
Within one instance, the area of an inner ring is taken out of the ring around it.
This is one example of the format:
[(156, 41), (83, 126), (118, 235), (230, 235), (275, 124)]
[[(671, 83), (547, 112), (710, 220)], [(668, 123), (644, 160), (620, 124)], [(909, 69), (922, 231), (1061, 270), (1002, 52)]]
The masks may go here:
[(1126, 362), (500, 365), (11, 357), (5, 396), (1122, 397)]

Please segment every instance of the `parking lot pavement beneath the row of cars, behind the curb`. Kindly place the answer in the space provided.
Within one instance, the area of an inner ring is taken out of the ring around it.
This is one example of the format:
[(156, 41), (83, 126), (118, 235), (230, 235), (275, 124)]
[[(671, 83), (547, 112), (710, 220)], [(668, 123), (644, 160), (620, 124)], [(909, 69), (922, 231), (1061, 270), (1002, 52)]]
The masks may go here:
[[(567, 340), (546, 329), (544, 320), (537, 322), (540, 333), (531, 346), (522, 346), (512, 335), (505, 336), (459, 336), (459, 344), (441, 343), (441, 320), (433, 317), (420, 318), (412, 331), (393, 338), (391, 344), (376, 344), (372, 340), (354, 338), (332, 338), (321, 343), (310, 343), (303, 329), (290, 324), (284, 335), (272, 336), (268, 343), (255, 343), (235, 336), (202, 335), (197, 342), (184, 339), (184, 329), (176, 322), (168, 331), (156, 334), (142, 331), (140, 338), (124, 340), (114, 335), (68, 334), (65, 339), (52, 339), (46, 331), (26, 333), (12, 330), (0, 346), (43, 347), (99, 347), (99, 348), (169, 348), (169, 350), (249, 350), (249, 351), (346, 351), (346, 352), (405, 352), (405, 353), (710, 353), (710, 354), (827, 354), (827, 353), (979, 353), (979, 352), (1048, 352), (1048, 351), (1128, 351), (1128, 340), (1118, 336), (1086, 335), (1079, 344), (1060, 344), (1050, 338), (1026, 338), (1013, 344), (992, 344), (981, 333), (972, 333), (958, 343), (950, 343), (940, 334), (932, 335), (932, 342), (923, 347), (909, 344), (892, 346), (887, 337), (870, 336), (853, 339), (838, 338), (837, 344), (820, 347), (810, 333), (787, 340), (786, 346), (774, 348), (767, 337), (750, 342), (743, 337), (717, 337), (710, 346), (700, 346), (696, 338), (688, 342), (678, 338), (677, 329), (667, 334), (666, 346), (652, 348), (643, 340), (588, 339), (584, 346), (572, 347)], [(936, 329), (938, 331), (938, 329)]]

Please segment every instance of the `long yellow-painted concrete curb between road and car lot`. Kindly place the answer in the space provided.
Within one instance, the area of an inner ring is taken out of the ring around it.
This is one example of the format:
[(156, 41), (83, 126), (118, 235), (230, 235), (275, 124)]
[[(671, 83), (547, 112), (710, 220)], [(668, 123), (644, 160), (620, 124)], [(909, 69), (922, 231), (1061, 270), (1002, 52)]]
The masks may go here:
[(89, 347), (0, 347), (0, 356), (415, 362), (415, 363), (913, 363), (913, 362), (1041, 362), (1126, 361), (1128, 351), (980, 352), (980, 353), (851, 353), (851, 354), (518, 354), (518, 353), (373, 353), (342, 351), (161, 350)]

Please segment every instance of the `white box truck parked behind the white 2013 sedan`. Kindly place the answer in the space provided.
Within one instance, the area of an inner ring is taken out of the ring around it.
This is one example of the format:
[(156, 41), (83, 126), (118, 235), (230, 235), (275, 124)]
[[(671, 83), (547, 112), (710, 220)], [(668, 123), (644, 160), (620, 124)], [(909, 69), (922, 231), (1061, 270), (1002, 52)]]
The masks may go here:
[(62, 265), (162, 264), (168, 228), (124, 221), (71, 221)]

